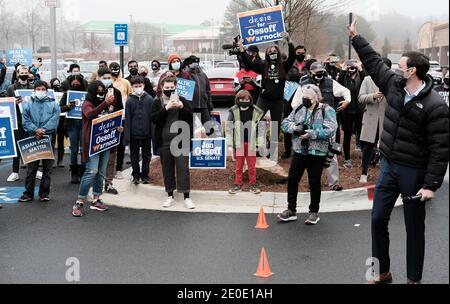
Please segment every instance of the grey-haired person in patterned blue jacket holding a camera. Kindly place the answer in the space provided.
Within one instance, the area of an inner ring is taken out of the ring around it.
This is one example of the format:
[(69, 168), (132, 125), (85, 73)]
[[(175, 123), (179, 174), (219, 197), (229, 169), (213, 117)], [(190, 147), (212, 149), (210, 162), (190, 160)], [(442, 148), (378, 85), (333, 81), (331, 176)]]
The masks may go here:
[(278, 215), (283, 222), (296, 221), (298, 185), (305, 170), (308, 172), (311, 191), (307, 225), (319, 223), (320, 197), (322, 193), (322, 172), (330, 144), (336, 134), (336, 111), (333, 107), (321, 103), (322, 93), (315, 85), (301, 88), (303, 103), (281, 124), (285, 133), (293, 134), (294, 155), (288, 177), (288, 209)]

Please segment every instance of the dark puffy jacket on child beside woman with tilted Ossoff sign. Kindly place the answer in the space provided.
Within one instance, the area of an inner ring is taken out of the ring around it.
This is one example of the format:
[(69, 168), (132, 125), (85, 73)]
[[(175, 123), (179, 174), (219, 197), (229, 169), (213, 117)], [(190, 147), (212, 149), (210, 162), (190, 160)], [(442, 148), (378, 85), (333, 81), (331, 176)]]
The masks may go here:
[(144, 92), (141, 97), (131, 94), (125, 103), (125, 135), (123, 144), (128, 146), (131, 139), (152, 137), (151, 108), (153, 97)]

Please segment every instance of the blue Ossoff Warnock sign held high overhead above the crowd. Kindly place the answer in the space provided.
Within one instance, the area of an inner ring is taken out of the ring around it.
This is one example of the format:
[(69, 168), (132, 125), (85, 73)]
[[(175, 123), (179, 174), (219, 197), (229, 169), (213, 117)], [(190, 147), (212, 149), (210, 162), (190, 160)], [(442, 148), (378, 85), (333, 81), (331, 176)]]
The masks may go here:
[(238, 20), (246, 46), (282, 40), (286, 31), (281, 5), (239, 13)]

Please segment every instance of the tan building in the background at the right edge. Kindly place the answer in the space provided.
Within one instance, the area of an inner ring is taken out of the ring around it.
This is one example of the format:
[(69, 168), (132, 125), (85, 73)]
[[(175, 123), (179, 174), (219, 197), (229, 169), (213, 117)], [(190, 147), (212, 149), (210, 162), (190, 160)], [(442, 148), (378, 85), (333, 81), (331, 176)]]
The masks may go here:
[(448, 21), (427, 22), (419, 29), (417, 49), (437, 61), (442, 67), (449, 64)]

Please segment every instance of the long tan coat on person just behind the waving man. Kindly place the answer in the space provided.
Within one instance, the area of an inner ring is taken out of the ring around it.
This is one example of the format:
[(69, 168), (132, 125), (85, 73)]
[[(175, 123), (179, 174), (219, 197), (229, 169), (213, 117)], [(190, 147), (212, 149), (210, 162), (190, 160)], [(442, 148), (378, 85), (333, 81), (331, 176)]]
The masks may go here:
[(359, 102), (366, 105), (366, 112), (363, 117), (363, 124), (361, 130), (361, 141), (368, 143), (375, 143), (377, 137), (381, 138), (383, 134), (384, 115), (386, 111), (386, 98), (381, 100), (374, 100), (373, 95), (380, 92), (375, 82), (367, 76), (359, 92)]

